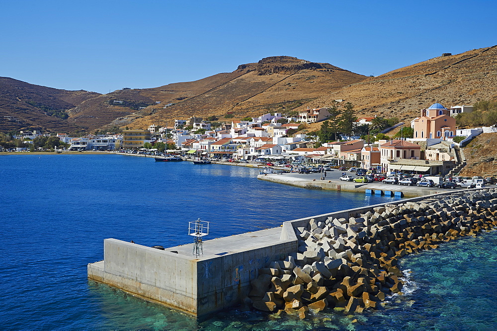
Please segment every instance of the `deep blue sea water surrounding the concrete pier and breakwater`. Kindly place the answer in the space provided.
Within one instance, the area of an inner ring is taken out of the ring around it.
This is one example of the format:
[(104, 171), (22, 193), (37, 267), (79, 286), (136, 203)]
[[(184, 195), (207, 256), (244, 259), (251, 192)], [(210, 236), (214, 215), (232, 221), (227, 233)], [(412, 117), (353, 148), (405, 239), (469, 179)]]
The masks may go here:
[[(197, 321), (86, 279), (103, 239), (165, 247), (391, 201), (257, 180), (257, 170), (122, 155), (0, 157), (0, 326), (7, 329), (486, 329), (497, 327), (495, 232), (403, 259), (406, 294), (385, 310), (300, 321), (231, 309)], [(351, 323), (353, 319), (357, 322)]]

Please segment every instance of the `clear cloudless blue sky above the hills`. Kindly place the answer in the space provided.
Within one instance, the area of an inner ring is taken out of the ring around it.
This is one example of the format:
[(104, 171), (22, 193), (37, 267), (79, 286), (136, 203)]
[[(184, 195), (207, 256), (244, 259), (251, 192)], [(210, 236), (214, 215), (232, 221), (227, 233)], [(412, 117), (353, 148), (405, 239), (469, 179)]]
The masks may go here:
[(496, 45), (496, 2), (0, 0), (0, 76), (107, 93), (278, 55), (379, 75)]

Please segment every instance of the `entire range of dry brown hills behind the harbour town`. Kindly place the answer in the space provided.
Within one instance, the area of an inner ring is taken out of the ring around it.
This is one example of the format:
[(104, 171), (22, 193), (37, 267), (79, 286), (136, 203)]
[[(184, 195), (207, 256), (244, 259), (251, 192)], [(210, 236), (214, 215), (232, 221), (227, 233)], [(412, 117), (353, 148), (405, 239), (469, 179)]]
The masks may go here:
[[(351, 102), (360, 116), (406, 120), (433, 102), (446, 107), (497, 99), (497, 46), (441, 56), (366, 77), (327, 63), (275, 56), (191, 82), (107, 94), (66, 91), (0, 77), (0, 131), (39, 127), (93, 130), (146, 128), (193, 115), (235, 118)], [(167, 107), (165, 108), (165, 106)], [(61, 110), (67, 120), (49, 116)], [(47, 113), (47, 114), (45, 114)], [(19, 122), (6, 121), (12, 116)]]

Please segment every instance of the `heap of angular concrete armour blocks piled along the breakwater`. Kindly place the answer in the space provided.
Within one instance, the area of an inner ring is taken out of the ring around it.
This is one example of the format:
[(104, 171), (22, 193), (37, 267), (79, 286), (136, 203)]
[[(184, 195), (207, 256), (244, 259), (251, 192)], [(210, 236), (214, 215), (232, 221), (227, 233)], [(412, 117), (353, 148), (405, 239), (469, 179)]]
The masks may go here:
[(496, 189), (288, 221), (281, 239), (297, 240), (298, 252), (259, 269), (246, 302), (300, 318), (327, 307), (380, 309), (386, 296), (402, 291), (400, 258), (496, 226)]

